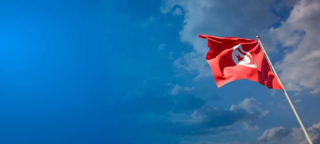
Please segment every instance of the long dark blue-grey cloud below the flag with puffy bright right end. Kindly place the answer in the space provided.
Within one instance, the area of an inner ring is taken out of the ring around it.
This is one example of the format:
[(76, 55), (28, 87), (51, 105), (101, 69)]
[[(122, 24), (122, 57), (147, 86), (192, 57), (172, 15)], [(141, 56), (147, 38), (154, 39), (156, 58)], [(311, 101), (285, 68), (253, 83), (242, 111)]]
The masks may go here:
[[(257, 123), (260, 117), (265, 116), (267, 111), (260, 108), (253, 110), (259, 103), (243, 104), (247, 101), (257, 102), (254, 98), (245, 99), (237, 105), (228, 109), (204, 104), (193, 110), (190, 116), (185, 113), (171, 113), (171, 121), (175, 124), (182, 124), (188, 127), (190, 133), (187, 135), (215, 134), (230, 129), (234, 124), (243, 124), (244, 129), (249, 129), (251, 124)], [(258, 127), (254, 126), (257, 129)]]

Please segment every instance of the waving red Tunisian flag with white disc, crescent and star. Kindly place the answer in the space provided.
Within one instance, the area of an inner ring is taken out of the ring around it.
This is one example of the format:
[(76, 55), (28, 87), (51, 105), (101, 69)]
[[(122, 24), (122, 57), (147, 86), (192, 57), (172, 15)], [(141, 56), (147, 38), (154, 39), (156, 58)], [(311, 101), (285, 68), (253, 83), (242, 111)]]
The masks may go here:
[(237, 37), (199, 35), (208, 39), (207, 57), (217, 86), (240, 79), (258, 82), (268, 88), (282, 89), (258, 41)]

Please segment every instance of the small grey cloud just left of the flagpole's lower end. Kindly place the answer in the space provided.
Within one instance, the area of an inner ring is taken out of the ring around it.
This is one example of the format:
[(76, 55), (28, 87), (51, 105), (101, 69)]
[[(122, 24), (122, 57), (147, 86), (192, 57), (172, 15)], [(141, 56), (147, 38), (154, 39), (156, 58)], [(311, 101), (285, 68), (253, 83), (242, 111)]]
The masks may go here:
[(262, 136), (256, 139), (256, 142), (260, 143), (260, 142), (275, 141), (289, 135), (289, 133), (290, 133), (290, 130), (285, 129), (282, 126), (267, 129), (263, 132)]

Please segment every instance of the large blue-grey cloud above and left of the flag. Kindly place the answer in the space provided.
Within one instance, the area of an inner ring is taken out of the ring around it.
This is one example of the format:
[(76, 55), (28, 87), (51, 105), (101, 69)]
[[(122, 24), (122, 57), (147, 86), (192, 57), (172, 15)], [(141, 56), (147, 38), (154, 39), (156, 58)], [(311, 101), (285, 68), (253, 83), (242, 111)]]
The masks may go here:
[(199, 34), (255, 38), (260, 31), (279, 20), (279, 17), (269, 11), (269, 6), (276, 1), (246, 2), (165, 1), (161, 8), (162, 13), (167, 14), (177, 6), (184, 11), (180, 40), (193, 46), (193, 52), (174, 61), (175, 68), (195, 71), (197, 76), (194, 80), (210, 77), (212, 74), (205, 62), (207, 41), (198, 38)]

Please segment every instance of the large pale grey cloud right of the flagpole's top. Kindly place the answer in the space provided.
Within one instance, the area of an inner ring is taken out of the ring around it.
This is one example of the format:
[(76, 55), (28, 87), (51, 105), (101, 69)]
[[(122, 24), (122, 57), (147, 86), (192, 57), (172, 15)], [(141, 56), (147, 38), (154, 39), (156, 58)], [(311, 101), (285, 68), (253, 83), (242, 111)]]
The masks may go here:
[(280, 27), (269, 30), (283, 46), (292, 47), (276, 65), (288, 90), (320, 92), (319, 17), (320, 1), (301, 0)]

